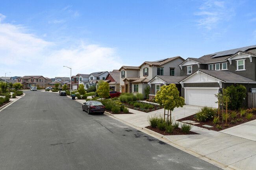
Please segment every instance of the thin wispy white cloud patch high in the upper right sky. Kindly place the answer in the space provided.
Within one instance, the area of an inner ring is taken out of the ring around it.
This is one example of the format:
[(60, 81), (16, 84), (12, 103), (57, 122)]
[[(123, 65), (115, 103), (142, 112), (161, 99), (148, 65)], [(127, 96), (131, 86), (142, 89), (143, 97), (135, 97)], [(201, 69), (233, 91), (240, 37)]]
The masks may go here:
[(207, 0), (200, 6), (199, 11), (195, 15), (200, 16), (197, 21), (199, 26), (211, 30), (216, 27), (219, 22), (228, 20), (234, 15), (231, 4), (224, 1)]

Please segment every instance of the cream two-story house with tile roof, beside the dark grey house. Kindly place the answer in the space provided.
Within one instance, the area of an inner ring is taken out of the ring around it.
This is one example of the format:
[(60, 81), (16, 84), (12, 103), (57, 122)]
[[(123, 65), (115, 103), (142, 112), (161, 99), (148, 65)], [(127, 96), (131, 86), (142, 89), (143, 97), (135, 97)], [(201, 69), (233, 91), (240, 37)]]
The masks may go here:
[[(180, 56), (177, 57), (171, 57), (171, 58), (165, 58), (153, 62), (145, 61), (143, 64), (141, 64), (139, 67), (127, 67), (122, 66), (121, 69), (121, 76), (123, 75), (123, 80), (121, 77), (121, 82), (123, 81), (124, 85), (121, 86), (121, 88), (124, 88), (126, 90), (125, 92), (132, 92), (132, 93), (142, 93), (144, 94), (144, 89), (148, 86), (148, 83), (150, 80), (152, 80), (153, 77), (156, 76), (179, 76), (180, 75), (180, 69), (178, 68), (178, 65), (183, 62), (184, 59)], [(125, 70), (127, 70), (126, 74), (133, 73), (131, 77), (125, 75)], [(132, 71), (131, 71), (132, 70)], [(137, 73), (136, 73), (137, 71)], [(179, 79), (180, 80), (180, 79)], [(154, 84), (154, 82), (152, 83)], [(151, 86), (150, 88), (155, 88)], [(156, 95), (154, 93), (154, 90), (151, 90), (152, 95)]]

